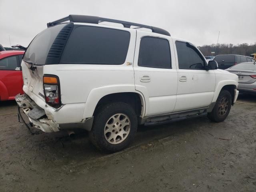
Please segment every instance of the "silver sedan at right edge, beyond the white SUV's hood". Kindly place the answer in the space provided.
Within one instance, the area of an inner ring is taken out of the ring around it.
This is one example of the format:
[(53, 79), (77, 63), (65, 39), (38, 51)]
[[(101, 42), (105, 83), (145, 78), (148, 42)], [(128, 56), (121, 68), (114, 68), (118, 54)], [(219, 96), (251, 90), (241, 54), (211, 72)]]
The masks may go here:
[(238, 90), (242, 93), (256, 94), (256, 63), (246, 62), (232, 66), (227, 71), (238, 75)]

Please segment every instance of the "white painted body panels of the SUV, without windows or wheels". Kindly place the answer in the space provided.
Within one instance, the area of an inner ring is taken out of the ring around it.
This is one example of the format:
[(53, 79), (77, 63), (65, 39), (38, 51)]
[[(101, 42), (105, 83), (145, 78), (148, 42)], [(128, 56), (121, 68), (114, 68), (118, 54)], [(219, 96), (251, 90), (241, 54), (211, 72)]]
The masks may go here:
[[(216, 102), (223, 86), (238, 86), (238, 76), (224, 70), (179, 69), (175, 42), (184, 40), (142, 30), (100, 26), (130, 32), (130, 45), (124, 64), (52, 64), (38, 66), (38, 72), (32, 74), (28, 69), (30, 65), (22, 61), (24, 92), (45, 110), (48, 119), (55, 124), (78, 123), (92, 117), (98, 101), (108, 94), (138, 93), (142, 100), (140, 117), (143, 118), (207, 107)], [(140, 39), (143, 36), (168, 40), (172, 69), (138, 66)], [(129, 62), (132, 65), (128, 65)], [(64, 106), (58, 111), (38, 95), (39, 92), (43, 93), (43, 74), (53, 74), (60, 79), (61, 102)], [(186, 76), (186, 81), (180, 81), (182, 76)]]

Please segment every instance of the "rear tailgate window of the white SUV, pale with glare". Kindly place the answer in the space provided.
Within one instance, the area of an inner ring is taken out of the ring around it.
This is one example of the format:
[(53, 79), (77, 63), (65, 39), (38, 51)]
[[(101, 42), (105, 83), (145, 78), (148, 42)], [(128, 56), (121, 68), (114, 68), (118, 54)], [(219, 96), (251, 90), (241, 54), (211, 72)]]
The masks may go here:
[(44, 65), (52, 43), (64, 26), (65, 24), (59, 24), (40, 32), (28, 46), (23, 60), (37, 65)]

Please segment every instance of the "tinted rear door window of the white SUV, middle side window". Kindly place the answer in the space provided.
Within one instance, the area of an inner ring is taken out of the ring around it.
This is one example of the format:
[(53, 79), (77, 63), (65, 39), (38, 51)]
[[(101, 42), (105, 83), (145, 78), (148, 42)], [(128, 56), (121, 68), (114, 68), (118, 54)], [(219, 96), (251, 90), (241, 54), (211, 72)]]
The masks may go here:
[(140, 40), (138, 66), (171, 68), (171, 53), (168, 40), (143, 37)]

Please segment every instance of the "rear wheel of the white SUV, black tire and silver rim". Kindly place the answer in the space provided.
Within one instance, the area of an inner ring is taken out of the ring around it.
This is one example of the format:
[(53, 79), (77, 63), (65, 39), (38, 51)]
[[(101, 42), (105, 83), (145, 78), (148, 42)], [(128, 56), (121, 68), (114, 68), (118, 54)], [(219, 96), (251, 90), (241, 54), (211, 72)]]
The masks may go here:
[(118, 152), (132, 142), (137, 127), (138, 119), (130, 105), (123, 102), (106, 104), (95, 113), (90, 141), (101, 151)]

